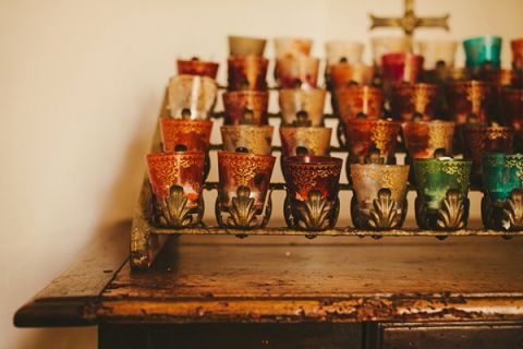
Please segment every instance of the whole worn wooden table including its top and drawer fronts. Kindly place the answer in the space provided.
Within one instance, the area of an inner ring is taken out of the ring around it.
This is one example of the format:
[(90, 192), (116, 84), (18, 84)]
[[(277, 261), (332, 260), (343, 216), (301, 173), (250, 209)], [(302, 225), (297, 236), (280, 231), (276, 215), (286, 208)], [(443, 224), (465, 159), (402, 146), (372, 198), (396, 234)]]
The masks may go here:
[(184, 236), (153, 269), (108, 233), (15, 314), (100, 348), (523, 348), (523, 239)]

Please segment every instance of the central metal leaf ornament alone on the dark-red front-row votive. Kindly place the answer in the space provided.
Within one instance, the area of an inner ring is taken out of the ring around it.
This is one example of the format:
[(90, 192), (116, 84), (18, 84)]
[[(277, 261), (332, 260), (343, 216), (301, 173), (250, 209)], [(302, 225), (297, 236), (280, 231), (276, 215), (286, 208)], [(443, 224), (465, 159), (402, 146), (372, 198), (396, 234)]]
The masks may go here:
[(307, 200), (300, 203), (294, 212), (297, 226), (302, 229), (323, 230), (329, 227), (332, 205), (321, 196), (318, 190), (311, 190)]

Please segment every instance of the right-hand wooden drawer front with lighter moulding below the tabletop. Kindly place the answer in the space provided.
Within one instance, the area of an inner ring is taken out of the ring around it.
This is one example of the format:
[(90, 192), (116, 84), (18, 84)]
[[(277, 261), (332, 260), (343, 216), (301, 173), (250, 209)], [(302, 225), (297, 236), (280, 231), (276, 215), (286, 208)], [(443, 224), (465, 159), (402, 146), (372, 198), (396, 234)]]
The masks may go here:
[(378, 324), (367, 338), (372, 349), (518, 349), (523, 324)]

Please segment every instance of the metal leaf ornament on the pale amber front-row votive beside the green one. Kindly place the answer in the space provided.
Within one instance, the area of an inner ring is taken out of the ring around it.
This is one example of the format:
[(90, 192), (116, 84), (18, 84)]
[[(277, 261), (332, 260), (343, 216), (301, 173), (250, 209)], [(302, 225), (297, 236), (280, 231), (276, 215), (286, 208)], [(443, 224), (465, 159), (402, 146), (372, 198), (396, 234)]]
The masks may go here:
[(378, 191), (378, 197), (373, 201), (368, 216), (368, 225), (374, 229), (393, 229), (400, 225), (401, 216), (396, 208), (397, 202), (392, 200), (388, 188)]

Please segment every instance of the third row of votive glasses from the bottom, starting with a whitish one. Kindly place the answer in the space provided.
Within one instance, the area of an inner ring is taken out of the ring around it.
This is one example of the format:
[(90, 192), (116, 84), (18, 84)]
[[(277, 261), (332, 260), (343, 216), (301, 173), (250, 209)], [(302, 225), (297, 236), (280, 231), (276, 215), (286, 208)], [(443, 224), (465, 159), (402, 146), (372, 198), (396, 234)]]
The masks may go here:
[[(396, 121), (412, 121), (416, 116), (424, 120), (443, 116), (458, 124), (466, 123), (474, 116), (478, 122), (496, 121), (516, 130), (521, 130), (523, 123), (522, 88), (497, 89), (483, 81), (455, 81), (446, 85), (443, 94), (442, 88), (434, 84), (399, 83), (391, 86), (387, 103), (380, 87), (351, 85), (346, 79), (340, 77), (340, 83), (331, 80), (331, 101), (340, 119), (353, 119), (364, 112), (373, 118), (387, 115)], [(208, 77), (174, 76), (169, 84), (170, 115), (180, 118), (185, 110), (188, 119), (210, 119), (217, 95), (217, 85)], [(296, 111), (305, 110), (313, 125), (323, 124), (326, 96), (327, 91), (318, 87), (280, 89), (278, 104), (283, 121), (292, 123)], [(240, 123), (245, 110), (252, 111), (253, 123), (267, 123), (267, 92), (230, 91), (223, 93), (222, 99), (227, 124)]]

